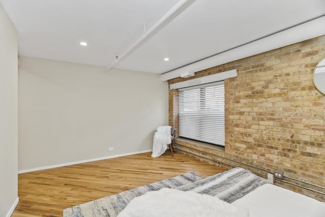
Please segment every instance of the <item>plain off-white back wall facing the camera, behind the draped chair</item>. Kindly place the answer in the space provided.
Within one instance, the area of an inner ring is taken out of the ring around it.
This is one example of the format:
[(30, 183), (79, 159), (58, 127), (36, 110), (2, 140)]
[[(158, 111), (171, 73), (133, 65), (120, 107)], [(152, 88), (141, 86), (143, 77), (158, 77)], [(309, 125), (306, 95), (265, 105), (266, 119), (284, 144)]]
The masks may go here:
[(150, 150), (168, 124), (157, 74), (19, 59), (19, 170)]

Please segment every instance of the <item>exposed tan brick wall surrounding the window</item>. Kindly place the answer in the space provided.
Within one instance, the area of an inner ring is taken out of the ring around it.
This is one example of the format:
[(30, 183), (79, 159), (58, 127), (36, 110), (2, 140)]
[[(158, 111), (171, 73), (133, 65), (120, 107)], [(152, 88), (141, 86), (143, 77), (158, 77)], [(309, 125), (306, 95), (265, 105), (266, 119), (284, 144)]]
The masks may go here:
[[(325, 36), (175, 78), (169, 84), (237, 69), (225, 80), (225, 147), (178, 138), (178, 151), (258, 174), (284, 171), (277, 185), (325, 201), (325, 95), (313, 70), (325, 57)], [(325, 82), (325, 81), (324, 81)], [(178, 91), (169, 90), (169, 124), (178, 128)], [(296, 180), (297, 179), (297, 180)], [(304, 183), (299, 180), (309, 182)], [(315, 192), (316, 191), (316, 192)]]

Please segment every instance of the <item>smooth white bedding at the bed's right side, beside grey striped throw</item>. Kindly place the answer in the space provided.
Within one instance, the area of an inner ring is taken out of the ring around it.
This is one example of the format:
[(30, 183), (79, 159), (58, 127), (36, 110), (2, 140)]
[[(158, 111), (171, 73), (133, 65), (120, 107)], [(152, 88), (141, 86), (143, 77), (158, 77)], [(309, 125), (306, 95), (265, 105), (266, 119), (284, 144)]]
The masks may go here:
[(250, 217), (325, 217), (325, 203), (264, 184), (232, 204), (249, 209)]

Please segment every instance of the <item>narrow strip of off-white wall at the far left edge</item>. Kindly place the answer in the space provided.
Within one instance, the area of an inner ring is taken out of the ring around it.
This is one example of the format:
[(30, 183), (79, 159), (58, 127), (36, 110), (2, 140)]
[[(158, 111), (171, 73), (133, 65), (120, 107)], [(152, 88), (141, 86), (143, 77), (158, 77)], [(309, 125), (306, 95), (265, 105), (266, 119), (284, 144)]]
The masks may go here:
[(0, 5), (0, 216), (18, 202), (17, 31)]

